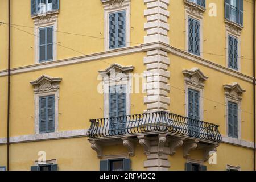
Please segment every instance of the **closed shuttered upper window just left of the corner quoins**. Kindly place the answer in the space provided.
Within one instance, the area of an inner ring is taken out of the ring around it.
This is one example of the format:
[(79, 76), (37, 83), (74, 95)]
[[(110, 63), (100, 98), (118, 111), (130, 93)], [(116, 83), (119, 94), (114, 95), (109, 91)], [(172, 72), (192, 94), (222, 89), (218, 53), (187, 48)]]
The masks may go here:
[(126, 11), (109, 14), (109, 49), (126, 46)]

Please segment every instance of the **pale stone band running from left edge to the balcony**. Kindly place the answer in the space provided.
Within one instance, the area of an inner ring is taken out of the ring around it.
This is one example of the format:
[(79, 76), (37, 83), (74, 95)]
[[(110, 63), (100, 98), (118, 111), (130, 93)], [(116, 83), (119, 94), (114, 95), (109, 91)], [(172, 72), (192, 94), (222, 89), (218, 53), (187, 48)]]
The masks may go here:
[[(38, 140), (51, 140), (51, 139), (63, 139), (73, 137), (86, 137), (88, 129), (82, 130), (70, 130), (70, 131), (59, 131), (54, 133), (43, 133), (34, 135), (20, 135), (16, 137), (10, 137), (10, 143), (23, 143), (23, 142), (34, 142)], [(0, 145), (6, 144), (7, 138), (0, 138)]]

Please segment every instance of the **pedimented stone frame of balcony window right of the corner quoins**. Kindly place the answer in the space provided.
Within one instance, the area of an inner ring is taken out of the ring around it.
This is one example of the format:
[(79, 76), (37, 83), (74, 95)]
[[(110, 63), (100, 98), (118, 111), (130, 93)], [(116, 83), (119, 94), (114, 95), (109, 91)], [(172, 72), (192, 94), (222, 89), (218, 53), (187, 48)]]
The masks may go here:
[(185, 115), (188, 117), (188, 89), (193, 89), (199, 92), (199, 109), (200, 120), (204, 120), (204, 82), (208, 79), (207, 76), (199, 68), (192, 68), (190, 70), (183, 70), (185, 79)]

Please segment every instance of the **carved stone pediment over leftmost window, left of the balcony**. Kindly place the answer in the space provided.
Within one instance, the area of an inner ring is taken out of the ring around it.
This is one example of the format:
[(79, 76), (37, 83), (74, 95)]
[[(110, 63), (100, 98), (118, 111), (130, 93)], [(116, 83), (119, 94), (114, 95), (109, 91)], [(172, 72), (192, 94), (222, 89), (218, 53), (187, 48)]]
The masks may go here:
[(59, 83), (62, 78), (52, 78), (47, 75), (40, 76), (37, 80), (31, 81), (35, 93), (52, 92), (59, 90)]

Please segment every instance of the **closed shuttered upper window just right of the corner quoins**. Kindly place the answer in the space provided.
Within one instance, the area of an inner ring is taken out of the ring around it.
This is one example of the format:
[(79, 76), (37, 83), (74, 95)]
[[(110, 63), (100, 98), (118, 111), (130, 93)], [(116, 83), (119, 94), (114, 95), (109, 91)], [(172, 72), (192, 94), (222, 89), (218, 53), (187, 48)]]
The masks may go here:
[(200, 56), (200, 22), (188, 18), (188, 52)]

